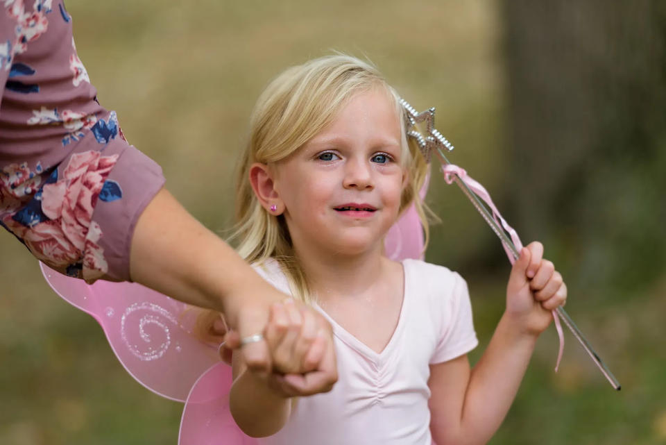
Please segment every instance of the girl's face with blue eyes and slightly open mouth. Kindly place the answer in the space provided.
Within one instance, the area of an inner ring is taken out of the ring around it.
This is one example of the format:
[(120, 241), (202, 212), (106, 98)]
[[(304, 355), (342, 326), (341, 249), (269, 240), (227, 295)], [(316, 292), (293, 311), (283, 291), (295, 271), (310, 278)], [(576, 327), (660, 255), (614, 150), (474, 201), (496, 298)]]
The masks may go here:
[(297, 252), (381, 251), (405, 182), (400, 140), (395, 105), (377, 88), (353, 96), (327, 128), (275, 165), (273, 187)]

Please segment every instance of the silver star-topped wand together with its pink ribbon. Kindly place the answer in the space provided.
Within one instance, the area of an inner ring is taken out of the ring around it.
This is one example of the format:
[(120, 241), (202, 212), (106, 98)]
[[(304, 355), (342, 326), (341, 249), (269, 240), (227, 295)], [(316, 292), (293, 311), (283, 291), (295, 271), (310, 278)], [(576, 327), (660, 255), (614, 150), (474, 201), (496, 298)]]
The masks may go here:
[[(437, 158), (441, 162), (442, 172), (444, 174), (446, 183), (456, 183), (460, 187), (460, 190), (462, 190), (468, 199), (470, 199), (470, 202), (478, 210), (481, 217), (483, 217), (486, 223), (488, 223), (488, 226), (493, 229), (495, 235), (499, 237), (499, 240), (502, 242), (502, 246), (504, 247), (504, 251), (506, 251), (506, 255), (509, 257), (509, 261), (511, 264), (513, 264), (513, 262), (515, 262), (515, 260), (517, 260), (520, 256), (519, 251), (522, 249), (522, 243), (520, 242), (518, 233), (516, 233), (516, 231), (506, 223), (506, 220), (502, 217), (502, 215), (499, 214), (499, 211), (495, 207), (493, 200), (490, 199), (490, 194), (488, 194), (484, 186), (467, 176), (465, 170), (456, 165), (453, 165), (446, 158), (443, 152), (443, 148), (451, 151), (453, 146), (448, 140), (446, 140), (445, 137), (443, 137), (443, 135), (441, 135), (441, 133), (439, 133), (439, 131), (436, 130), (436, 128), (434, 128), (435, 109), (429, 108), (428, 110), (419, 113), (416, 112), (416, 110), (411, 105), (409, 105), (407, 101), (404, 101), (404, 99), (400, 100), (400, 105), (402, 105), (402, 108), (404, 109), (407, 128), (410, 128), (410, 131), (407, 133), (407, 135), (416, 140), (423, 156), (427, 161), (430, 160), (431, 151), (435, 151)], [(425, 137), (416, 129), (416, 124), (419, 124), (423, 121), (425, 121), (427, 126), (427, 135)], [(486, 208), (484, 203), (490, 207), (490, 211), (488, 208)], [(610, 385), (613, 385), (613, 388), (619, 391), (621, 389), (620, 382), (617, 381), (617, 378), (615, 378), (613, 373), (610, 372), (610, 369), (608, 369), (604, 361), (601, 360), (595, 350), (592, 349), (590, 342), (588, 342), (583, 333), (581, 333), (581, 330), (579, 330), (578, 326), (576, 326), (564, 308), (556, 308), (556, 310), (553, 311), (553, 319), (560, 341), (555, 371), (557, 371), (559, 367), (564, 349), (564, 334), (560, 323), (560, 319), (562, 319), (567, 328), (569, 328), (574, 337), (583, 346), (583, 349), (585, 349), (585, 351), (590, 355), (592, 361), (597, 364), (599, 371), (604, 374), (606, 380), (608, 380)]]

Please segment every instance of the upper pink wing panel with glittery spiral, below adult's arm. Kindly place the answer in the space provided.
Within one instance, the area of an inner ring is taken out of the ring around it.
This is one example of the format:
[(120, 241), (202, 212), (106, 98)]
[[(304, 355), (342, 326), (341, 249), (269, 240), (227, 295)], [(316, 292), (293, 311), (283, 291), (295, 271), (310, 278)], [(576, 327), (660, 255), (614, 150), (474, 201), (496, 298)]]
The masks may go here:
[(156, 394), (185, 401), (197, 378), (220, 361), (215, 348), (191, 334), (188, 305), (136, 283), (88, 285), (40, 267), (62, 299), (96, 319), (128, 373)]

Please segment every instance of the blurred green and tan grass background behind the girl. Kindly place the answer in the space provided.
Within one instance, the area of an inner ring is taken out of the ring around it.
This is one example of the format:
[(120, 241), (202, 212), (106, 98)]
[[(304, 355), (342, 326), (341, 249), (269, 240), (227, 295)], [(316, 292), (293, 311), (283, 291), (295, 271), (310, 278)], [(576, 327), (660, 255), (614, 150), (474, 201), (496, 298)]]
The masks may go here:
[[(438, 129), (457, 147), (452, 161), (500, 209), (509, 183), (520, 181), (502, 173), (508, 80), (497, 0), (70, 0), (67, 8), (101, 103), (117, 110), (130, 143), (162, 165), (169, 190), (219, 233), (231, 224), (232, 171), (259, 92), (285, 67), (332, 49), (373, 60), (416, 108), (436, 106)], [(438, 176), (429, 202), (443, 224), (432, 230), (428, 259), (468, 279), (481, 339), (475, 361), (504, 308), (509, 266), (493, 233)], [(548, 205), (534, 203), (534, 211)], [(570, 230), (576, 235), (575, 224)], [(559, 244), (547, 249), (567, 260), (567, 310), (624, 389), (613, 392), (570, 336), (554, 373), (548, 330), (490, 443), (666, 443), (666, 280), (607, 301), (603, 283), (589, 285), (593, 278), (580, 276)], [(135, 383), (96, 322), (60, 301), (4, 231), (0, 252), (0, 444), (176, 443), (182, 405)]]

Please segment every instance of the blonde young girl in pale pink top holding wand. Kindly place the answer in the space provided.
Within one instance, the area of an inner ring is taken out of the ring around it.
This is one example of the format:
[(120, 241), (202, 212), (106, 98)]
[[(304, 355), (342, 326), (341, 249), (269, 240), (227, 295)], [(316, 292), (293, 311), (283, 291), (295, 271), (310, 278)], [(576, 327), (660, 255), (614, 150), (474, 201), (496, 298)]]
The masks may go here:
[[(463, 278), (384, 255), (411, 203), (427, 237), (418, 194), (427, 164), (398, 101), (374, 67), (329, 56), (278, 76), (253, 113), (237, 183), (239, 253), (330, 321), (339, 376), (330, 392), (296, 400), (234, 354), (231, 412), (266, 444), (484, 444), (565, 302), (541, 244), (522, 249), (506, 310), (470, 369), (477, 338)], [(273, 306), (264, 337), (275, 369), (316, 366), (312, 316), (294, 303)]]

